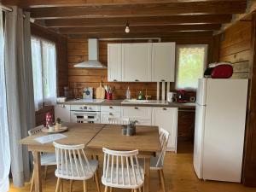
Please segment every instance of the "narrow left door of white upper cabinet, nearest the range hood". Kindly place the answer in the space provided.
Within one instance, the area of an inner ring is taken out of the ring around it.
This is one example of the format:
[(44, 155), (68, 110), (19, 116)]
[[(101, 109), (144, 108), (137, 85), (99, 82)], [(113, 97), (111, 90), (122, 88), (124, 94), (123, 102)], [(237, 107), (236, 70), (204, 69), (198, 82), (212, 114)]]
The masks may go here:
[(122, 44), (108, 44), (108, 81), (122, 81)]

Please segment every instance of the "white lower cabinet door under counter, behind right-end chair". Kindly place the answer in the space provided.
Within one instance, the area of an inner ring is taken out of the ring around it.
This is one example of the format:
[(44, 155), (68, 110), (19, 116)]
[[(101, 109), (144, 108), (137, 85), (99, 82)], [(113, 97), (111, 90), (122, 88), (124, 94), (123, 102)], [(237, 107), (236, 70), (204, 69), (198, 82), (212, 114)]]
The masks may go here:
[(152, 125), (170, 133), (168, 151), (177, 151), (177, 108), (153, 108)]

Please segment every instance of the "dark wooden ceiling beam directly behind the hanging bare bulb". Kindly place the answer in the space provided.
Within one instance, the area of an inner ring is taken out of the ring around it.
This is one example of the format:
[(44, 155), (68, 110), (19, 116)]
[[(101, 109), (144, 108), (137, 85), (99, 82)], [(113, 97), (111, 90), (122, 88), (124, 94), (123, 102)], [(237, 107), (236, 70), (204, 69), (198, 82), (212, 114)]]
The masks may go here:
[[(172, 25), (172, 26), (131, 26), (130, 33), (148, 33), (148, 32), (184, 32), (184, 31), (212, 31), (219, 30), (220, 24), (202, 24), (202, 25)], [(62, 34), (89, 34), (89, 33), (125, 33), (125, 26), (96, 26), (96, 27), (75, 27), (59, 28)]]

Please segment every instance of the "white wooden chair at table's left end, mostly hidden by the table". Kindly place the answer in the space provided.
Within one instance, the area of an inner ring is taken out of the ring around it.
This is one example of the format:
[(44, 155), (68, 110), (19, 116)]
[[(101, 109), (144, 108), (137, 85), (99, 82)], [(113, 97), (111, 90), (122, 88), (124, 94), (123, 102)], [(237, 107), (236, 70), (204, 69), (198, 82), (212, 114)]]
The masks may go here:
[[(44, 128), (44, 125), (39, 125), (36, 128), (33, 128), (30, 131), (28, 131), (28, 135), (33, 136), (33, 135), (35, 135), (39, 132), (42, 132), (43, 128)], [(50, 153), (42, 153), (41, 154), (41, 166), (44, 166), (44, 180), (46, 179), (46, 176), (47, 176), (47, 167), (48, 166), (55, 166), (55, 165), (56, 165), (55, 154), (50, 154)], [(30, 191), (32, 192), (33, 189), (34, 189), (34, 171), (32, 173)]]

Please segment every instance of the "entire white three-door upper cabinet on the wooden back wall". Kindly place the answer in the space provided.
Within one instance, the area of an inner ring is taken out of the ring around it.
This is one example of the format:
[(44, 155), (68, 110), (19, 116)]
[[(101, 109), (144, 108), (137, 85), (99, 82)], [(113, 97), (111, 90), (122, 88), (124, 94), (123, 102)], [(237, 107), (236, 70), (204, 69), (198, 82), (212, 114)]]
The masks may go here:
[(174, 82), (175, 43), (108, 44), (108, 81)]

